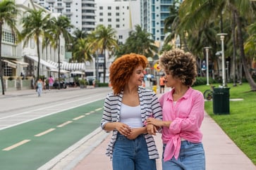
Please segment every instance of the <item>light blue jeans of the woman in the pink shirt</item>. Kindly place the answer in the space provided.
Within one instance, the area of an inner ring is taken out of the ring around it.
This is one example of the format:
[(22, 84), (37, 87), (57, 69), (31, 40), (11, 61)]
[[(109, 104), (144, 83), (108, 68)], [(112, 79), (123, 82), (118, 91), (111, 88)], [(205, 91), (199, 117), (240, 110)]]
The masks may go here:
[[(165, 146), (164, 144), (164, 148)], [(162, 159), (161, 165), (163, 170), (205, 170), (205, 150), (202, 143), (182, 141), (178, 160), (172, 157), (164, 162), (164, 159)]]

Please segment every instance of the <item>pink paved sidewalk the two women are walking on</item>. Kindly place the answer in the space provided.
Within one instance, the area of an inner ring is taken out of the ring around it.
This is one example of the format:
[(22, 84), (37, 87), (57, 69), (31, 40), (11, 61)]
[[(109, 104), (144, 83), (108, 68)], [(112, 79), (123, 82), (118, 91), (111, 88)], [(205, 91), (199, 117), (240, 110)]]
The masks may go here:
[[(226, 136), (226, 133), (205, 113), (202, 123), (203, 140), (205, 148), (207, 170), (256, 170), (250, 159)], [(89, 155), (85, 156), (73, 170), (111, 170), (109, 157), (104, 155), (110, 135), (102, 141)], [(161, 135), (155, 138), (157, 148), (161, 154)], [(157, 159), (157, 169), (161, 169), (161, 160)]]

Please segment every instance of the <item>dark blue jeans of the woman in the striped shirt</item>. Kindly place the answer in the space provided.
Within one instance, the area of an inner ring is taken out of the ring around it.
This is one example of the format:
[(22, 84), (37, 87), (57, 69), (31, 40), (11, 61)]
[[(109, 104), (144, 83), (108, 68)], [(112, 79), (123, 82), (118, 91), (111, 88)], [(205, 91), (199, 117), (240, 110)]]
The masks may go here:
[(144, 135), (134, 140), (117, 134), (112, 159), (113, 170), (156, 170), (156, 160), (150, 159)]

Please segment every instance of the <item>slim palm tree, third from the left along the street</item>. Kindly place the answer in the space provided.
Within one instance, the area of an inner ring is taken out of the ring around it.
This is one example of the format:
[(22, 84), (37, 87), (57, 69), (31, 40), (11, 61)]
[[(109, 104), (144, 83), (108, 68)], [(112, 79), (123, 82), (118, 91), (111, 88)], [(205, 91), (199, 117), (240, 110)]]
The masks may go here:
[(60, 51), (61, 51), (61, 36), (64, 37), (65, 41), (69, 42), (72, 40), (71, 34), (68, 32), (69, 28), (73, 28), (74, 26), (71, 25), (71, 21), (63, 15), (60, 15), (58, 18), (52, 18), (51, 23), (51, 32), (53, 37), (55, 37), (55, 45), (58, 47), (58, 82), (59, 82), (59, 89), (61, 89), (60, 79), (61, 79), (61, 61), (60, 61)]

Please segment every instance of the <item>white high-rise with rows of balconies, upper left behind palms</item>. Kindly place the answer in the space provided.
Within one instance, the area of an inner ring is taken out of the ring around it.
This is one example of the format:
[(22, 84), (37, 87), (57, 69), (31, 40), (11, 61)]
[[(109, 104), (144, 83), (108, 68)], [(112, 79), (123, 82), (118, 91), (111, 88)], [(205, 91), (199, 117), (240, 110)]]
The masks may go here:
[[(33, 0), (53, 13), (66, 15), (75, 29), (90, 32), (95, 30), (95, 0)], [(103, 0), (102, 0), (103, 1)]]

